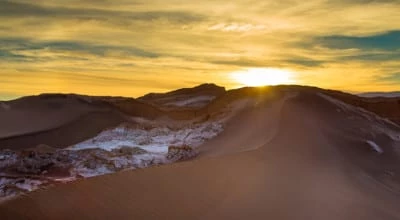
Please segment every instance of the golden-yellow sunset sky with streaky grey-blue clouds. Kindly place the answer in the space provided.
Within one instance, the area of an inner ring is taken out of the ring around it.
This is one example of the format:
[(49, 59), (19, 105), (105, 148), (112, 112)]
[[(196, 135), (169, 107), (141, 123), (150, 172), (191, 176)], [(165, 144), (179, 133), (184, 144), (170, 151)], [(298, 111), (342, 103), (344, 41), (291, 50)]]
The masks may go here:
[(230, 89), (253, 70), (400, 90), (399, 12), (400, 0), (0, 0), (0, 100)]

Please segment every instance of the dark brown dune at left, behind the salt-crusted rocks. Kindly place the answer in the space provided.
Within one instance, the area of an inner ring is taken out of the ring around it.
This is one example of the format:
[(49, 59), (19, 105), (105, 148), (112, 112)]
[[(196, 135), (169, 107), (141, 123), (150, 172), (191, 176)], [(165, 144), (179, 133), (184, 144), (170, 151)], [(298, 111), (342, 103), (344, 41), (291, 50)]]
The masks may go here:
[(44, 94), (3, 102), (0, 149), (47, 144), (65, 148), (129, 121), (164, 113), (148, 104), (120, 97)]

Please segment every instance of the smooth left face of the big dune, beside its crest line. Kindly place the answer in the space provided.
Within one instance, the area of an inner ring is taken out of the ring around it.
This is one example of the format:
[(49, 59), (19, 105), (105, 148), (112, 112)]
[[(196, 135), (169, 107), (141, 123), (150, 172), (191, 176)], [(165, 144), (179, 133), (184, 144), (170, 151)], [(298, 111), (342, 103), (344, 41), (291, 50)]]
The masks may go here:
[(229, 120), (222, 134), (201, 146), (200, 156), (215, 157), (254, 150), (265, 145), (278, 132), (284, 103), (295, 96), (296, 93), (289, 93), (243, 99), (238, 103), (243, 109)]

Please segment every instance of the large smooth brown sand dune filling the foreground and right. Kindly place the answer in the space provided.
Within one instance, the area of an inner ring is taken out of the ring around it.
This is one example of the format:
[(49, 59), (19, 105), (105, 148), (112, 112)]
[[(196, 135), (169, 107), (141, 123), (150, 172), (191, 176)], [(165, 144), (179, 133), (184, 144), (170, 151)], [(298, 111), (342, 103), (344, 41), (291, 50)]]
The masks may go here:
[[(267, 115), (277, 119), (270, 121)], [(241, 123), (248, 120), (259, 124)], [(225, 133), (204, 146), (199, 159), (34, 192), (1, 205), (0, 216), (399, 219), (399, 181), (384, 175), (398, 172), (398, 142), (376, 129), (370, 136), (357, 130), (373, 122), (315, 93), (282, 103), (269, 100), (232, 118)], [(384, 144), (385, 153), (377, 155), (363, 138)]]

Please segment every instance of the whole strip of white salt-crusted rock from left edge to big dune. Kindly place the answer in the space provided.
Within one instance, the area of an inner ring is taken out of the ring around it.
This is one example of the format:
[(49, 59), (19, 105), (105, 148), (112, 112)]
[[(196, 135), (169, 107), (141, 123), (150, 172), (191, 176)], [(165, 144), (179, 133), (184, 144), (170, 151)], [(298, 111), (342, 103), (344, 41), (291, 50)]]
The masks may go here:
[[(139, 119), (135, 120), (138, 121)], [(139, 120), (141, 125), (151, 125), (153, 122)], [(170, 146), (198, 147), (206, 140), (217, 136), (223, 131), (220, 121), (209, 121), (199, 124), (183, 123), (180, 127), (155, 126), (151, 129), (120, 125), (114, 129), (106, 130), (82, 143), (59, 150), (54, 155), (45, 155), (49, 162), (62, 158), (64, 164), (58, 166), (71, 166), (70, 176), (46, 177), (43, 179), (0, 178), (0, 198), (11, 198), (26, 192), (43, 187), (48, 181), (53, 183), (74, 181), (77, 178), (87, 178), (126, 169), (145, 168), (158, 164), (174, 162), (174, 155), (169, 155)], [(186, 154), (184, 152), (184, 154)], [(35, 154), (34, 158), (27, 160), (34, 166), (42, 166), (41, 155)], [(188, 154), (190, 155), (190, 153)], [(178, 155), (178, 159), (180, 156)], [(2, 151), (0, 154), (0, 167), (15, 167), (18, 160), (24, 160), (21, 155), (13, 151)], [(56, 164), (58, 162), (55, 162)], [(18, 166), (18, 165), (17, 165)], [(26, 170), (30, 172), (31, 170)]]

